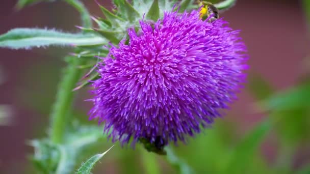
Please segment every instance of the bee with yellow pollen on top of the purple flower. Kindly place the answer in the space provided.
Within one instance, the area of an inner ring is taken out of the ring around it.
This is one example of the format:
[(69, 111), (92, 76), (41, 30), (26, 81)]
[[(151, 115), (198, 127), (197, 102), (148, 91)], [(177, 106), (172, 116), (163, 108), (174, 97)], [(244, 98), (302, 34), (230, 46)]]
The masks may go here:
[(205, 20), (209, 18), (210, 22), (215, 21), (219, 18), (219, 10), (212, 4), (206, 1), (198, 1), (200, 10), (200, 19)]

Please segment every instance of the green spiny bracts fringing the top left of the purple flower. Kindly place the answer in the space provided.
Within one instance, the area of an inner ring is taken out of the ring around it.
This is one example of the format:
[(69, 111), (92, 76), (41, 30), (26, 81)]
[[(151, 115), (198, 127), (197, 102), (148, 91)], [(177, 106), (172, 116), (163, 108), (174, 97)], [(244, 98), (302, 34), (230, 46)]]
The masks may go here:
[[(139, 21), (150, 20), (156, 22), (163, 17), (165, 11), (173, 11), (179, 7), (179, 12), (185, 9), (193, 8), (194, 0), (133, 0), (132, 3), (126, 0), (113, 0), (114, 9), (109, 11), (107, 8), (101, 6), (97, 1), (99, 8), (104, 14), (105, 18), (92, 17), (92, 20), (97, 24), (97, 27), (81, 27), (85, 33), (97, 34), (106, 38), (111, 44), (118, 45), (121, 40), (128, 39), (128, 28), (135, 28), (139, 30)], [(105, 57), (109, 52), (110, 45), (82, 45), (78, 46), (81, 51), (72, 53), (81, 59), (88, 59), (88, 64), (93, 67), (97, 63), (96, 57)], [(89, 81), (98, 78), (98, 73), (91, 69), (81, 80), (81, 83), (74, 89), (78, 90), (89, 84)]]

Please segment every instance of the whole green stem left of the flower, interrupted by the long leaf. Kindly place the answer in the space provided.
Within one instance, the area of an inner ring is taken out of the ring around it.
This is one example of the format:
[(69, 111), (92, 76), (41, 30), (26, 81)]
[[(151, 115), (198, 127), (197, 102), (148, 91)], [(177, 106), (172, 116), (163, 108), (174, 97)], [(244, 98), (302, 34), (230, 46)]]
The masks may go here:
[[(91, 18), (84, 4), (79, 0), (64, 0), (73, 6), (81, 14), (84, 27), (91, 27)], [(69, 57), (69, 65), (65, 68), (62, 80), (58, 87), (56, 101), (51, 112), (50, 139), (55, 143), (61, 143), (65, 134), (66, 125), (70, 117), (70, 108), (73, 101), (73, 92), (76, 83), (79, 81), (82, 70), (77, 68), (84, 65), (86, 60)]]

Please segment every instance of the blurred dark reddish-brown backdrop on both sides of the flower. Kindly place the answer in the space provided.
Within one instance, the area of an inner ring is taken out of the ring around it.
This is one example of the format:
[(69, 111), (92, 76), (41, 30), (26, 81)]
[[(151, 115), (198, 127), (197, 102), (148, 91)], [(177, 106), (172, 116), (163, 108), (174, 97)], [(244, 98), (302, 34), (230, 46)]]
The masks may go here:
[[(78, 31), (74, 27), (80, 24), (77, 12), (61, 1), (41, 3), (20, 11), (14, 10), (16, 2), (2, 0), (0, 34), (15, 27)], [(84, 2), (87, 2), (92, 15), (101, 16), (94, 1)], [(278, 90), (295, 84), (303, 71), (303, 60), (310, 52), (305, 18), (298, 1), (239, 0), (222, 16), (231, 27), (242, 30), (241, 35), (250, 54), (251, 71), (262, 74)], [(0, 172), (20, 173), (24, 171), (22, 167), (29, 165), (27, 154), (32, 153), (32, 149), (26, 146), (25, 141), (45, 135), (42, 130), (46, 130), (48, 125), (48, 112), (45, 108), (36, 109), (29, 105), (28, 102), (39, 102), (39, 97), (27, 95), (28, 90), (46, 96), (47, 102), (42, 105), (50, 107), (56, 93), (59, 70), (64, 66), (60, 57), (65, 53), (65, 49), (55, 48), (32, 51), (0, 48), (0, 66), (7, 78), (0, 86), (0, 104), (11, 104), (14, 108), (13, 124), (0, 127)], [(53, 70), (47, 71), (48, 68)], [(243, 134), (260, 121), (262, 115), (253, 113), (253, 98), (247, 91), (239, 96), (240, 100), (231, 111), (236, 116), (228, 119), (238, 120)], [(272, 154), (272, 150), (266, 152)]]

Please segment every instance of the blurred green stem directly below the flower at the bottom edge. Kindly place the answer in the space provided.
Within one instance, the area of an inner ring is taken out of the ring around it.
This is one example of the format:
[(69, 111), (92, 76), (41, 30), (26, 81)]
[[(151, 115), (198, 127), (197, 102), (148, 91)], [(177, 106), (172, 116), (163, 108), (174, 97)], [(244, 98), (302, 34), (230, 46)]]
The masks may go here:
[(142, 163), (147, 174), (159, 174), (160, 166), (156, 159), (157, 154), (147, 152), (145, 149), (140, 150), (142, 156)]

